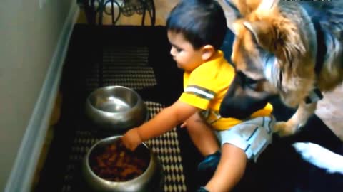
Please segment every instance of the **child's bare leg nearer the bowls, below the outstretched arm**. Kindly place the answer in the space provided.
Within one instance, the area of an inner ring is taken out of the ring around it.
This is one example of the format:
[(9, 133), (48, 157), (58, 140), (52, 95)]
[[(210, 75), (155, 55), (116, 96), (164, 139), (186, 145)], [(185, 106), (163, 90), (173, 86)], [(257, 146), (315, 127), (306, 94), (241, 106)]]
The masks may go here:
[(203, 156), (214, 154), (219, 150), (217, 137), (212, 128), (204, 122), (199, 113), (193, 114), (187, 119), (187, 131), (192, 142)]

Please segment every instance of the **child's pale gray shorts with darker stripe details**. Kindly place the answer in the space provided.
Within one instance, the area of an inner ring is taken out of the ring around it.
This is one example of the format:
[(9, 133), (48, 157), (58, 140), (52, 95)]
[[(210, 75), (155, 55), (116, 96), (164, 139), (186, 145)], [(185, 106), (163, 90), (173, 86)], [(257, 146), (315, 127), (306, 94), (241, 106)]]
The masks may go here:
[(259, 154), (272, 143), (275, 118), (256, 117), (224, 131), (216, 131), (221, 145), (233, 144), (247, 154), (248, 159), (257, 161)]

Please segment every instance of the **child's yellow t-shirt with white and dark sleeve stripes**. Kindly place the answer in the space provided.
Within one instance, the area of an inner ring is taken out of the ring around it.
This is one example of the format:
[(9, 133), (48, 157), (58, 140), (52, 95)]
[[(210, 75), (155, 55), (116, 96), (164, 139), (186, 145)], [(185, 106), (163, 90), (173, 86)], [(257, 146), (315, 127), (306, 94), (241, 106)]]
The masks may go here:
[[(224, 59), (222, 51), (218, 51), (212, 60), (203, 63), (191, 73), (184, 72), (184, 92), (179, 101), (207, 111), (207, 122), (214, 129), (226, 130), (242, 120), (224, 118), (219, 115), (219, 107), (234, 80), (235, 71)], [(269, 116), (272, 105), (269, 103), (251, 117)]]

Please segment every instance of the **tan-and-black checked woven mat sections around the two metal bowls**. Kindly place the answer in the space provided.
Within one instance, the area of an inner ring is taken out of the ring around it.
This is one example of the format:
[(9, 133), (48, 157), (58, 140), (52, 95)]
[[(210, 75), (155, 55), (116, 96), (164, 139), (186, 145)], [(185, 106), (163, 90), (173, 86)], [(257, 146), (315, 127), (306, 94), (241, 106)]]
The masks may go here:
[[(102, 63), (95, 63), (93, 69), (86, 75), (86, 89), (95, 90), (109, 85), (121, 85), (132, 89), (156, 85), (154, 70), (148, 65), (148, 48), (127, 46), (121, 48), (104, 48)], [(100, 73), (99, 73), (100, 72)], [(102, 79), (100, 79), (102, 78)], [(154, 117), (164, 106), (151, 101), (145, 101), (150, 117)], [(89, 124), (82, 121), (77, 124), (74, 142), (71, 146), (69, 161), (66, 165), (61, 191), (84, 191), (84, 181), (81, 178), (81, 161), (90, 147), (104, 138), (90, 131)], [(156, 153), (164, 170), (164, 191), (187, 191), (182, 156), (176, 128), (159, 137), (146, 141), (146, 144)]]

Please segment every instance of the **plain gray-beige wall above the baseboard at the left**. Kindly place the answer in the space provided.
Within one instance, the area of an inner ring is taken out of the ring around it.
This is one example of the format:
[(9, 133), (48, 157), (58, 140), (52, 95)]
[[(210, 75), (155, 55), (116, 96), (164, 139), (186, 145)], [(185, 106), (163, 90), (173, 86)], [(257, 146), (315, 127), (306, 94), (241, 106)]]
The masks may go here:
[[(0, 3), (0, 191), (6, 186), (72, 1)], [(76, 3), (76, 2), (74, 2)]]

